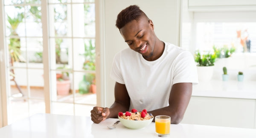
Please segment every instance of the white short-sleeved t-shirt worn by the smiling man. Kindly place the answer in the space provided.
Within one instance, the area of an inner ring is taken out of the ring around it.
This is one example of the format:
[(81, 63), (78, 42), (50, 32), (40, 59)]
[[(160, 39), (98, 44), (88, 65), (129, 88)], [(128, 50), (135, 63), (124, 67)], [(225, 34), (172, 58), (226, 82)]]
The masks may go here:
[(198, 83), (192, 54), (171, 43), (165, 43), (163, 55), (147, 61), (130, 48), (117, 53), (110, 76), (125, 84), (130, 96), (130, 110), (148, 111), (169, 106), (169, 95), (175, 83)]

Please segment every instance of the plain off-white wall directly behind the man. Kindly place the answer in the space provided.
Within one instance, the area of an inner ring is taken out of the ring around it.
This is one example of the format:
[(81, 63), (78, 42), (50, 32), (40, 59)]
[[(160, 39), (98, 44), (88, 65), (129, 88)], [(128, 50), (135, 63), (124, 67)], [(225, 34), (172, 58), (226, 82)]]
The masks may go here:
[(114, 101), (115, 82), (109, 77), (114, 55), (128, 47), (116, 28), (117, 14), (130, 5), (138, 5), (154, 23), (160, 40), (179, 44), (180, 0), (105, 0), (106, 104)]

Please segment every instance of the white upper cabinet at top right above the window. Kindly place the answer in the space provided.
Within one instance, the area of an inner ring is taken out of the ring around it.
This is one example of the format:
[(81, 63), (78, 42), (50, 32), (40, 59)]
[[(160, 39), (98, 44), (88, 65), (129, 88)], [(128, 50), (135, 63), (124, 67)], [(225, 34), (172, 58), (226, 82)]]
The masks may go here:
[(188, 0), (190, 11), (256, 10), (256, 0)]

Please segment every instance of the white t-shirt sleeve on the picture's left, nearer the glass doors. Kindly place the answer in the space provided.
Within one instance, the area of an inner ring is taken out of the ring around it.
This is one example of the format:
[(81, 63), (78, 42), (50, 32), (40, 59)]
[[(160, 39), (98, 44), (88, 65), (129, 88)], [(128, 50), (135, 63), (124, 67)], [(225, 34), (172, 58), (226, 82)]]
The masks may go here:
[(120, 52), (117, 53), (114, 57), (112, 69), (110, 72), (110, 78), (112, 78), (118, 83), (125, 84), (122, 77), (121, 69), (120, 69)]

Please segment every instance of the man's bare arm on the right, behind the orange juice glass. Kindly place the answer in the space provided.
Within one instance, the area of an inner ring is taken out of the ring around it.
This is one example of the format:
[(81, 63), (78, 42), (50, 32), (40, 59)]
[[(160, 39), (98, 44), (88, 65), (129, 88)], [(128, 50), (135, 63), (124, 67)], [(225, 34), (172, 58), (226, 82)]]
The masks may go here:
[(189, 104), (192, 94), (192, 83), (176, 83), (172, 86), (169, 97), (169, 106), (148, 111), (154, 116), (168, 115), (172, 124), (179, 124)]

